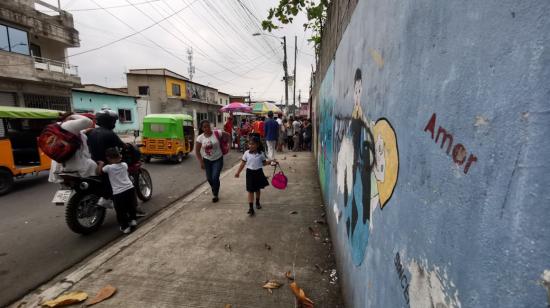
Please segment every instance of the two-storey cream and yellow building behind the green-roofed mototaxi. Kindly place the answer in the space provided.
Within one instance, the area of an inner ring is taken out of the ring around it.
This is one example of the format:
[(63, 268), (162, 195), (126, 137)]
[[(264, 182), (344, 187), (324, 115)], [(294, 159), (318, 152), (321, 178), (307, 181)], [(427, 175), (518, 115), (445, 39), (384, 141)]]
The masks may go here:
[(223, 125), (218, 117), (220, 99), (228, 102), (229, 95), (220, 95), (215, 88), (165, 68), (131, 69), (126, 76), (128, 94), (137, 96), (138, 105), (146, 106), (149, 113), (188, 114), (193, 116), (195, 126), (203, 119), (217, 127)]

